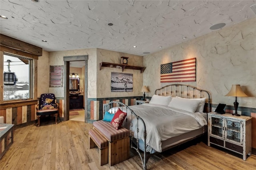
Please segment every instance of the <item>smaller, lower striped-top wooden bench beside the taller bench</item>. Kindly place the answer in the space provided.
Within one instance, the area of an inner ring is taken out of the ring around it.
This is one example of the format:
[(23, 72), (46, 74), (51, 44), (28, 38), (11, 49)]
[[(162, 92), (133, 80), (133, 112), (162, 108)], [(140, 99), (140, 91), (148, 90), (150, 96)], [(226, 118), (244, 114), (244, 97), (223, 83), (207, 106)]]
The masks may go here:
[(94, 129), (89, 130), (90, 149), (99, 148), (99, 162), (100, 166), (108, 163), (108, 140), (105, 139), (98, 131)]

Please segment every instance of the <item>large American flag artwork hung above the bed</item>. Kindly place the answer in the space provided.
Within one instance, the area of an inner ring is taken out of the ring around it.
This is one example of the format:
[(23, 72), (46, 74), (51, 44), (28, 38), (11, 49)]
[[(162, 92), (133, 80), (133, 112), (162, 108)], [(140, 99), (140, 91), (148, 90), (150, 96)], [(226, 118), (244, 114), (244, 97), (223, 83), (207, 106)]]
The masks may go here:
[(161, 83), (195, 82), (196, 58), (161, 64)]

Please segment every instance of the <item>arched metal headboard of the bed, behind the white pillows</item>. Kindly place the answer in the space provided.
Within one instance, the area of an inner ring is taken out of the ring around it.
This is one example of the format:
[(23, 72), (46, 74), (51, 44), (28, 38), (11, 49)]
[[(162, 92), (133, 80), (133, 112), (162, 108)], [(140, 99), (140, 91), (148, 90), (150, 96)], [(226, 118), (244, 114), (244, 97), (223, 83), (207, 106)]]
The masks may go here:
[[(162, 91), (162, 93), (160, 93), (161, 91)], [(169, 84), (169, 85), (163, 86), (159, 89), (156, 89), (155, 94), (160, 95), (160, 96), (176, 95), (176, 96), (180, 96), (180, 97), (182, 97), (182, 95), (185, 94), (186, 97), (189, 98), (190, 97), (189, 92), (192, 92), (192, 98), (196, 97), (195, 92), (198, 92), (198, 94), (200, 94), (200, 98), (202, 98), (202, 95), (203, 95), (202, 93), (207, 94), (207, 96), (208, 96), (208, 113), (211, 111), (211, 109), (210, 109), (210, 93), (206, 90), (202, 90), (202, 89), (199, 89), (194, 86), (190, 86), (187, 84)]]

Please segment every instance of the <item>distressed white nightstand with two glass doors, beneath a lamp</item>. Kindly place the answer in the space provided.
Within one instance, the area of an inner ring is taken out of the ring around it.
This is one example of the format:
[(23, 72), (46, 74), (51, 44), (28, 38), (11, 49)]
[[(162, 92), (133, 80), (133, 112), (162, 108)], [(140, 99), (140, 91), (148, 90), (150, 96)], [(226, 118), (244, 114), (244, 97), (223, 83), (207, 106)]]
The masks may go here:
[(252, 152), (252, 117), (208, 113), (208, 146), (211, 144), (243, 155)]

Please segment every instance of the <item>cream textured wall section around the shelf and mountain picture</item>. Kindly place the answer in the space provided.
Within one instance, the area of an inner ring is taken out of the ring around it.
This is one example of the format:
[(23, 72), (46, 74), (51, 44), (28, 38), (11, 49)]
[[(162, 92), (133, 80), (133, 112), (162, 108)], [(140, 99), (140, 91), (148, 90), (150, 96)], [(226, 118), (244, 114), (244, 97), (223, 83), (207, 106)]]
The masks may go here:
[(100, 62), (120, 64), (120, 57), (129, 57), (128, 65), (143, 66), (142, 56), (97, 49), (97, 98), (142, 96), (142, 92), (140, 92), (140, 90), (142, 88), (143, 74), (140, 73), (140, 70), (124, 69), (123, 73), (133, 74), (132, 92), (111, 92), (111, 72), (122, 72), (122, 69), (102, 67), (100, 70)]

